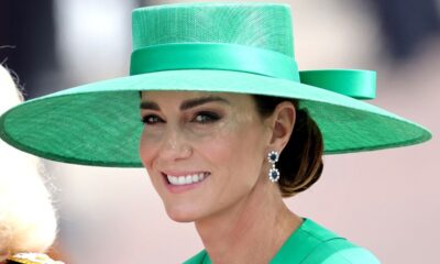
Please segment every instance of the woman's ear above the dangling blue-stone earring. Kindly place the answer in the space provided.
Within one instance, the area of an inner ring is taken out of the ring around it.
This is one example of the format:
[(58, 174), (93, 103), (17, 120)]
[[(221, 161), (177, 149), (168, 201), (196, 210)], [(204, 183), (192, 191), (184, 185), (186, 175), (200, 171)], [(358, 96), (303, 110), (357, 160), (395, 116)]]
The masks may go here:
[(267, 147), (279, 153), (284, 150), (294, 131), (295, 119), (296, 110), (292, 102), (283, 101), (276, 106), (270, 118), (272, 139)]

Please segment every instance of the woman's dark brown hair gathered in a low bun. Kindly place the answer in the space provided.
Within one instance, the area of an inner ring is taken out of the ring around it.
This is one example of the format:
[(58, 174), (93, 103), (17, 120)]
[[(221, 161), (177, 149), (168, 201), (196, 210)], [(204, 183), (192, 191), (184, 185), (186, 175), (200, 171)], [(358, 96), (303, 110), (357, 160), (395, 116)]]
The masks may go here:
[(321, 176), (323, 140), (321, 131), (307, 109), (298, 108), (298, 100), (267, 96), (253, 96), (262, 118), (271, 116), (276, 106), (289, 101), (296, 109), (296, 121), (290, 139), (279, 155), (278, 186), (283, 197), (294, 196), (308, 189)]

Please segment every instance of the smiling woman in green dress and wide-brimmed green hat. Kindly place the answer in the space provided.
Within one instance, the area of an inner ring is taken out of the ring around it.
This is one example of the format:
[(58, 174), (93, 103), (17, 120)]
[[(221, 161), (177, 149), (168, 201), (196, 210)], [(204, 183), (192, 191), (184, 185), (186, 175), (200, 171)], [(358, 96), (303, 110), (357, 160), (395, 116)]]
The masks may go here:
[(54, 161), (144, 166), (168, 216), (196, 223), (206, 250), (187, 263), (378, 263), (282, 200), (318, 180), (323, 153), (430, 139), (360, 101), (373, 72), (298, 72), (289, 7), (274, 3), (138, 9), (133, 50), (131, 76), (13, 108), (0, 136)]

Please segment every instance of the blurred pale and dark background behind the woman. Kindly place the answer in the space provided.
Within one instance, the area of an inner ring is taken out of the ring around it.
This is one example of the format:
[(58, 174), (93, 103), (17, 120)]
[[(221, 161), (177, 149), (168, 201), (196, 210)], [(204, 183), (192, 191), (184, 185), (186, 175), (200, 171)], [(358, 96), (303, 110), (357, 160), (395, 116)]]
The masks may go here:
[[(125, 76), (131, 10), (170, 1), (2, 0), (0, 62), (28, 99)], [(180, 1), (183, 2), (183, 1)], [(383, 263), (438, 263), (440, 1), (290, 0), (300, 69), (377, 72), (372, 103), (433, 133), (421, 145), (324, 157), (321, 179), (289, 208)], [(182, 263), (202, 244), (168, 219), (144, 169), (44, 161), (59, 215), (56, 251), (72, 264)]]

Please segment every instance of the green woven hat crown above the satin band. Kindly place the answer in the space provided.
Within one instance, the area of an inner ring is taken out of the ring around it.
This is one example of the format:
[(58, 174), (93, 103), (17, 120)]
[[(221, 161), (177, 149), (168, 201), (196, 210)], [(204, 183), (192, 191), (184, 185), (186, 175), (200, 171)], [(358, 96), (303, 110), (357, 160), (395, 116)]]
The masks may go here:
[(224, 43), (294, 57), (290, 8), (276, 3), (182, 3), (133, 11), (133, 51), (175, 43)]

